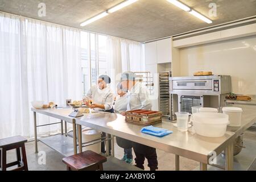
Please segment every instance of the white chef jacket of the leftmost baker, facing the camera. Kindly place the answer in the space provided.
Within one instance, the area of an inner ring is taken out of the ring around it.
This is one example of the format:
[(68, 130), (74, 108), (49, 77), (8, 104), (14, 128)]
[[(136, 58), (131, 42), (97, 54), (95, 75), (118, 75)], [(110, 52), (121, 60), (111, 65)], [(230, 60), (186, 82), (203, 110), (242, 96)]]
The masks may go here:
[[(113, 107), (113, 102), (114, 102), (114, 94), (112, 90), (107, 86), (104, 89), (99, 89), (98, 85), (93, 85), (87, 92), (85, 98), (90, 98), (93, 100), (94, 103), (96, 104), (102, 104), (104, 105), (105, 110), (110, 110)], [(97, 108), (97, 110), (102, 110)]]

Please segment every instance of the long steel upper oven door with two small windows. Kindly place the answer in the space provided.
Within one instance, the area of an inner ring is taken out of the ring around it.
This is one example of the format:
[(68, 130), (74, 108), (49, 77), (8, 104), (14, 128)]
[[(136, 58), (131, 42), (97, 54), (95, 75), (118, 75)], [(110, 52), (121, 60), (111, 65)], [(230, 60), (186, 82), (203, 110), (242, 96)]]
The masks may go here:
[(212, 90), (212, 80), (173, 80), (174, 90)]

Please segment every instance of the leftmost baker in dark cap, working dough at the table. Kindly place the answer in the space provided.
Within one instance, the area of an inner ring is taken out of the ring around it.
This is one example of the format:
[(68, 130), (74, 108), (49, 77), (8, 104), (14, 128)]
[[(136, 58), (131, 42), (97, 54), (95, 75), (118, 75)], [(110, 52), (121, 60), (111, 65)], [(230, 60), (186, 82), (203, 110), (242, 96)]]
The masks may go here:
[[(110, 82), (111, 79), (108, 75), (99, 76), (97, 85), (93, 85), (89, 89), (82, 101), (91, 109), (114, 113), (114, 93), (109, 87)], [(102, 137), (106, 137), (106, 133), (102, 132)], [(109, 145), (109, 151), (111, 151), (111, 145)], [(101, 142), (101, 152), (106, 152), (104, 142)]]

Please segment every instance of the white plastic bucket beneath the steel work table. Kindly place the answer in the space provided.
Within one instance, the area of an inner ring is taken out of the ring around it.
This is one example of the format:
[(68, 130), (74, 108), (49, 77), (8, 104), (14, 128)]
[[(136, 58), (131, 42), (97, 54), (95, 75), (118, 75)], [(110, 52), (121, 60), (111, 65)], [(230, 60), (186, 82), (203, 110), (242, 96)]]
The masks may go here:
[[(90, 142), (92, 140), (96, 140), (99, 138), (101, 138), (101, 132), (90, 129), (89, 127), (86, 127), (85, 129), (82, 130), (82, 143)], [(101, 143), (92, 144), (90, 146), (86, 146), (82, 148), (82, 151), (86, 151), (86, 150), (91, 150), (96, 152), (97, 154), (100, 154)]]

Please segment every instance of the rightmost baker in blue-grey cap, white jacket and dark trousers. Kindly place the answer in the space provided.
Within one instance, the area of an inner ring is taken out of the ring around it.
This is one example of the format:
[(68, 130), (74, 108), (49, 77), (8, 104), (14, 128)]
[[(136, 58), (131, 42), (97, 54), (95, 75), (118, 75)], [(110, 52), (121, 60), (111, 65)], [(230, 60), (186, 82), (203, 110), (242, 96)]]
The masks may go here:
[[(122, 88), (127, 90), (127, 111), (135, 109), (151, 110), (152, 104), (149, 99), (149, 93), (146, 86), (135, 80), (136, 75), (133, 72), (122, 73)], [(135, 152), (135, 163), (137, 167), (144, 169), (145, 158), (148, 161), (148, 167), (151, 171), (158, 169), (158, 160), (156, 149), (133, 142)]]

